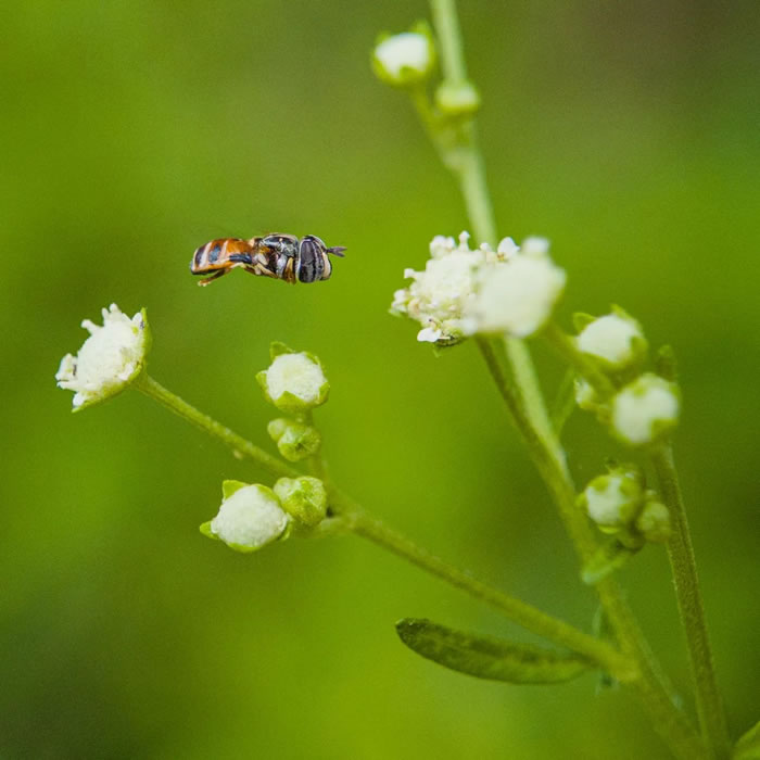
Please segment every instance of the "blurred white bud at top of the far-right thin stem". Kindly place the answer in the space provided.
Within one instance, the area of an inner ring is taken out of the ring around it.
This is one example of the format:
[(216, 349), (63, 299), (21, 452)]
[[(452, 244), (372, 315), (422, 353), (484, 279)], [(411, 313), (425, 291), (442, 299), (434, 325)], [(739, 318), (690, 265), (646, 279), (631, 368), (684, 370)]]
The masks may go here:
[(679, 421), (677, 387), (647, 372), (612, 398), (612, 431), (625, 443), (650, 443)]

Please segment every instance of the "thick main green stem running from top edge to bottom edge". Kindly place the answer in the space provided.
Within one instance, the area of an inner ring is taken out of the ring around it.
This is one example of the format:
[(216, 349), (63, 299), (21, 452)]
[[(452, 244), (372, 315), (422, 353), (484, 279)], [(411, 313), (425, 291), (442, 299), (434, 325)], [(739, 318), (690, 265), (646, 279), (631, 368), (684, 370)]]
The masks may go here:
[[(444, 76), (455, 81), (464, 80), (467, 72), (455, 1), (430, 0), (430, 4)], [(461, 125), (457, 137), (458, 140), (448, 148), (448, 154), (442, 156), (444, 164), (457, 176), (477, 242), (496, 244), (496, 225), (484, 164), (471, 121)], [(436, 144), (441, 151), (440, 141)], [(554, 497), (575, 550), (585, 563), (592, 556), (596, 542), (584, 516), (575, 508), (574, 485), (565, 453), (552, 429), (528, 347), (522, 341), (507, 339), (506, 363), (502, 365), (493, 340), (479, 339), (478, 345), (528, 444), (531, 457)], [(641, 677), (634, 685), (655, 727), (676, 757), (684, 760), (706, 757), (698, 736), (673, 704), (671, 689), (653, 658), (617, 581), (613, 578), (605, 579), (596, 585), (596, 591), (622, 650), (638, 664)]]

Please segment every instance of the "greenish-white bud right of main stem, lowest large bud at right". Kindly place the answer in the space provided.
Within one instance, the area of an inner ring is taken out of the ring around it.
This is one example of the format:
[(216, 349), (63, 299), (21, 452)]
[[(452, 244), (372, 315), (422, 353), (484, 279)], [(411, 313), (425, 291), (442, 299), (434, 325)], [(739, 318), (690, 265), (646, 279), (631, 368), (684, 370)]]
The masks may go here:
[(605, 533), (626, 528), (644, 505), (644, 478), (634, 467), (618, 467), (588, 483), (580, 505)]

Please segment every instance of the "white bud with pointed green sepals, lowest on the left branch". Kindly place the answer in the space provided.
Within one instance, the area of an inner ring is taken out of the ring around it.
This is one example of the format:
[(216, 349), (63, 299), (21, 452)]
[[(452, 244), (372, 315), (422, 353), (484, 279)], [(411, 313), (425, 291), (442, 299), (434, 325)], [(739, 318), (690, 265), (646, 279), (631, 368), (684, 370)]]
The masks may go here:
[(226, 480), (221, 493), (217, 516), (201, 525), (201, 533), (242, 553), (255, 552), (284, 537), (290, 517), (271, 489)]

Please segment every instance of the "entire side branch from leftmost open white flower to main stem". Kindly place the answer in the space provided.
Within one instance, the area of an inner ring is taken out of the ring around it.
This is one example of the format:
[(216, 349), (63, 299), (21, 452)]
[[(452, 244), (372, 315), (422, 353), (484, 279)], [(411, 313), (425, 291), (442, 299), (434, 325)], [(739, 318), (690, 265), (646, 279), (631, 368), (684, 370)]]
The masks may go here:
[[(275, 477), (295, 478), (300, 472), (281, 463), (263, 449), (246, 441), (242, 435), (220, 425), (216, 420), (191, 406), (179, 396), (175, 395), (153, 378), (143, 373), (136, 387), (145, 395), (166, 406), (179, 417), (192, 422), (205, 432), (229, 446), (236, 454), (249, 457), (259, 467)], [(620, 681), (631, 681), (638, 675), (636, 667), (631, 660), (619, 653), (606, 642), (590, 636), (579, 629), (565, 623), (561, 620), (542, 612), (525, 603), (504, 594), (503, 592), (478, 581), (463, 570), (444, 562), (426, 549), (417, 546), (411, 541), (397, 533), (379, 520), (371, 517), (363, 507), (356, 504), (350, 496), (328, 484), (330, 494), (330, 507), (334, 514), (324, 532), (347, 532), (383, 546), (394, 554), (404, 557), (427, 572), (443, 579), (451, 585), (467, 592), (478, 599), (483, 599), (499, 609), (505, 617), (518, 625), (522, 625), (533, 633), (543, 635), (559, 646), (567, 647), (581, 655), (585, 655), (605, 670), (608, 670)]]

